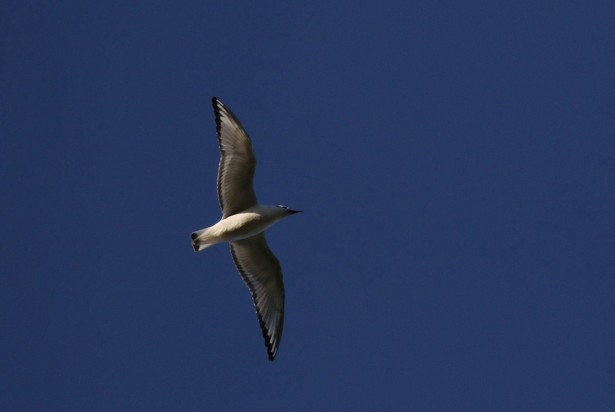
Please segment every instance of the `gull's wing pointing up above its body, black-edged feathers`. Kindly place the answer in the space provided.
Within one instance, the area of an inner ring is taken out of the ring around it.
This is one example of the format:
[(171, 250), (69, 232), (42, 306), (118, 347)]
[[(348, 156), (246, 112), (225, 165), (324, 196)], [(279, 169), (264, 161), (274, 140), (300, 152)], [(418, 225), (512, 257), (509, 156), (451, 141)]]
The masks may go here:
[(218, 200), (222, 218), (226, 218), (258, 204), (252, 187), (256, 155), (248, 133), (231, 109), (215, 97), (212, 104), (220, 145)]

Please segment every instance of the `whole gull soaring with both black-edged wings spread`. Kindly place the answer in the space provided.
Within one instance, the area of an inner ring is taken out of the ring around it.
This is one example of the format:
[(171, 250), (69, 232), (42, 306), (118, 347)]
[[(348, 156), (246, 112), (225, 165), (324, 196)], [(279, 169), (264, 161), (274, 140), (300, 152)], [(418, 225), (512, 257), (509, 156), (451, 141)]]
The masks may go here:
[(230, 242), (232, 259), (252, 293), (269, 360), (273, 361), (284, 325), (284, 282), (280, 261), (265, 240), (265, 229), (303, 211), (261, 205), (256, 200), (252, 185), (256, 155), (252, 141), (231, 109), (215, 97), (212, 103), (220, 146), (218, 200), (222, 218), (209, 228), (193, 232), (192, 247), (199, 252), (217, 243)]

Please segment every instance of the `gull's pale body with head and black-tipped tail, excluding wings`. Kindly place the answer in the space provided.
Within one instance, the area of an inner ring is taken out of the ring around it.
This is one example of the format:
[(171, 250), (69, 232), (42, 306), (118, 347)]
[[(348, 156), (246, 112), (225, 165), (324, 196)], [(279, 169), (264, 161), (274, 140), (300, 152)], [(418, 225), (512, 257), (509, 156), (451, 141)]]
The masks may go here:
[(221, 219), (209, 228), (194, 232), (198, 250), (217, 243), (233, 242), (254, 236), (288, 216), (288, 210), (278, 206), (255, 205), (243, 212)]

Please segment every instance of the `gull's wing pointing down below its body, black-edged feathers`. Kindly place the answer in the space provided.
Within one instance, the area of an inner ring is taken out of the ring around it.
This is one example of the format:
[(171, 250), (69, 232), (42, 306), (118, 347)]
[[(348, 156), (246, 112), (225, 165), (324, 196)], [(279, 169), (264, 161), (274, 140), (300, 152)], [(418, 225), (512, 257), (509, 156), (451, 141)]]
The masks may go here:
[(269, 249), (265, 232), (231, 242), (235, 266), (252, 292), (269, 360), (274, 360), (284, 326), (284, 282), (280, 261)]

